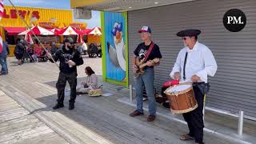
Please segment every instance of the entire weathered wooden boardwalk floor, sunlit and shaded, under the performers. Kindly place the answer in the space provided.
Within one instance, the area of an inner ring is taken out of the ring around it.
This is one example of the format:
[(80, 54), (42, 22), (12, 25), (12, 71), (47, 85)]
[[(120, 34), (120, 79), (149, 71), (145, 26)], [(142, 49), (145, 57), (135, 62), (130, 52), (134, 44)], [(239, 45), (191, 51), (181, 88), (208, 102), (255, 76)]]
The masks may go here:
[[(84, 76), (85, 66), (101, 75), (99, 58), (84, 60), (78, 67), (79, 77)], [(178, 140), (187, 131), (178, 122), (160, 116), (154, 122), (146, 122), (146, 115), (130, 118), (134, 108), (118, 102), (119, 94), (78, 96), (74, 110), (68, 110), (67, 95), (65, 107), (52, 110), (58, 68), (50, 63), (16, 66), (13, 58), (8, 61), (10, 74), (0, 78), (0, 143), (194, 143)], [(204, 136), (207, 144), (236, 143), (214, 134)]]

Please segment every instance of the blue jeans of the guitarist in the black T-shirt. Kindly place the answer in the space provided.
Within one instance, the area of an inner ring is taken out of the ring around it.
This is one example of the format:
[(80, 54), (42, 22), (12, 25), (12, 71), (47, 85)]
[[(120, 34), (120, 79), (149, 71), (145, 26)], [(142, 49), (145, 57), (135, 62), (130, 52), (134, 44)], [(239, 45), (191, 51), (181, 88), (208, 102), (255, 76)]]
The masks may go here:
[(156, 114), (156, 102), (154, 99), (154, 69), (147, 68), (145, 72), (134, 79), (136, 98), (137, 98), (137, 110), (143, 113), (143, 84), (146, 88), (146, 95), (149, 99), (149, 113), (150, 115)]

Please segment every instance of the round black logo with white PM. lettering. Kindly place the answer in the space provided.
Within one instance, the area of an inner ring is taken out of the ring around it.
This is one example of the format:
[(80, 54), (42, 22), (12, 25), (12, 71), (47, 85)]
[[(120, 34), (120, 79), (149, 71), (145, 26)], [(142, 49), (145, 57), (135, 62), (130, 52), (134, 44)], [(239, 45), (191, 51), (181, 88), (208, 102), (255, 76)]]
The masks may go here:
[(224, 14), (223, 24), (226, 27), (226, 30), (238, 32), (246, 26), (246, 14), (238, 9), (228, 10)]

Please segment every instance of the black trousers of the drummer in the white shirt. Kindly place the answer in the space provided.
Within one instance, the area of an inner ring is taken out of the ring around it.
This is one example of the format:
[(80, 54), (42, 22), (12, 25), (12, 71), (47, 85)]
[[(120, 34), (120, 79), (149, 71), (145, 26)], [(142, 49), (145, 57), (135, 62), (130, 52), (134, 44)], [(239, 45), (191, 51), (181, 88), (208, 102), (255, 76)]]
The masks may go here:
[(190, 130), (190, 136), (195, 138), (195, 142), (202, 143), (203, 137), (203, 99), (204, 94), (198, 89), (197, 86), (193, 86), (194, 89), (194, 96), (198, 102), (198, 108), (189, 113), (184, 113), (183, 118), (187, 122), (187, 126)]

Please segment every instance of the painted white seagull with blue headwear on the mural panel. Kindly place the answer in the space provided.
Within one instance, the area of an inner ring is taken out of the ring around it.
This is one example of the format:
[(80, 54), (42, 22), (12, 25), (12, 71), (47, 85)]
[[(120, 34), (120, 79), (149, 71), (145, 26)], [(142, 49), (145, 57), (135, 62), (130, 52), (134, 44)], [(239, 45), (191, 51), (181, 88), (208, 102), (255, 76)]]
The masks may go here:
[(107, 42), (107, 50), (110, 54), (110, 60), (114, 66), (121, 67), (122, 70), (126, 71), (126, 44), (122, 38), (122, 22), (115, 22), (113, 30), (114, 47)]

